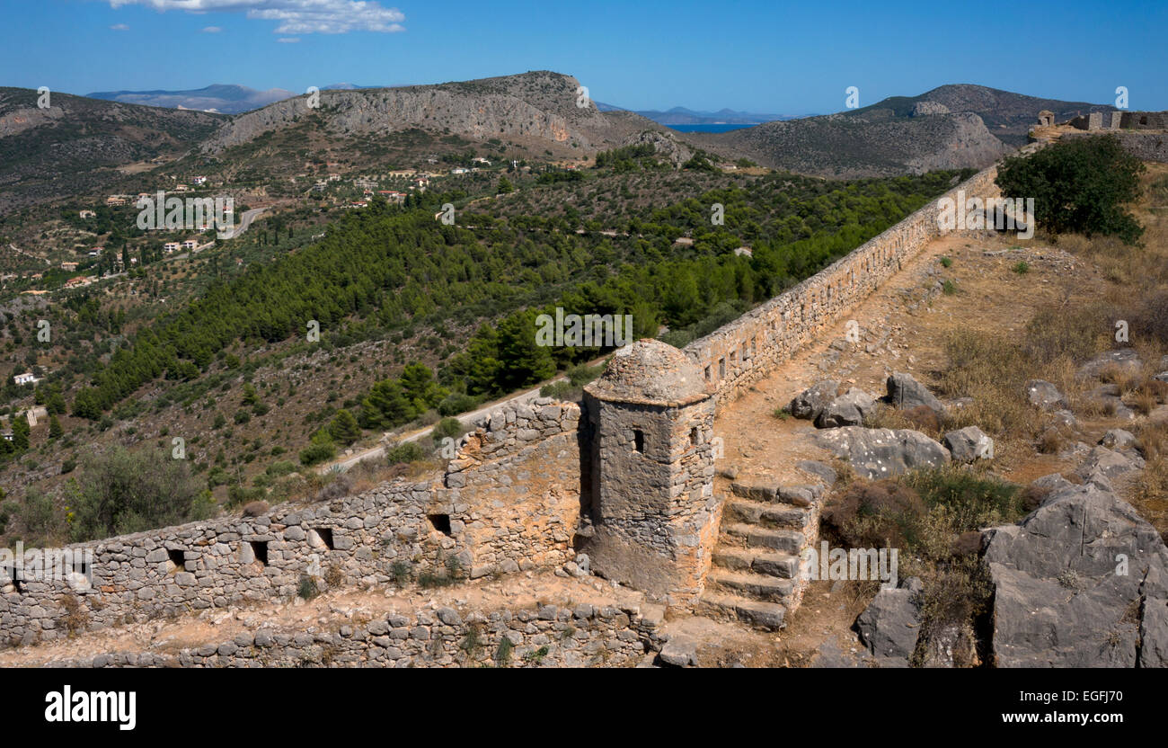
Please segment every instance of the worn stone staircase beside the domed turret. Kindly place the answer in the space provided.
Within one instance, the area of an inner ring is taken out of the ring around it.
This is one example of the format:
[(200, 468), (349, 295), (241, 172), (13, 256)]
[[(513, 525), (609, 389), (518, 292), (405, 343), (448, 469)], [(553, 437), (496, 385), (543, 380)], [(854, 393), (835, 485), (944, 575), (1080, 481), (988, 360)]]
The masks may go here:
[(730, 490), (697, 612), (781, 629), (807, 587), (799, 554), (819, 536), (823, 486), (758, 480)]

